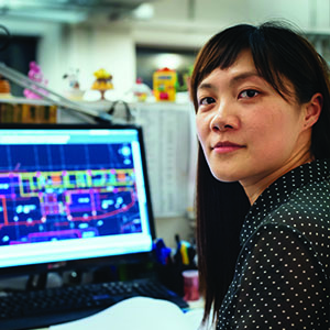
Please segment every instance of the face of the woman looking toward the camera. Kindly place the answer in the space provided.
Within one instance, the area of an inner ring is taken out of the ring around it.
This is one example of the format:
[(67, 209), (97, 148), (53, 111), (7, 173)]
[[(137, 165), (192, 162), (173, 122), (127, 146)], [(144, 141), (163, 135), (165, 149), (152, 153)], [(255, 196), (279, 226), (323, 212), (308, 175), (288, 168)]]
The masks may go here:
[(207, 76), (197, 99), (198, 138), (219, 180), (245, 188), (310, 161), (306, 105), (283, 99), (258, 76), (250, 52)]

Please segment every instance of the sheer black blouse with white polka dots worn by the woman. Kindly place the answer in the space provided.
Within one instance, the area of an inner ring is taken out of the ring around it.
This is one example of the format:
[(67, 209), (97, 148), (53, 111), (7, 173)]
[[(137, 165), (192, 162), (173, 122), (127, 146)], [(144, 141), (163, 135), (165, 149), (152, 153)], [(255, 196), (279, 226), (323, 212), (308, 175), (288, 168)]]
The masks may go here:
[(217, 329), (330, 329), (330, 162), (285, 174), (251, 207)]

